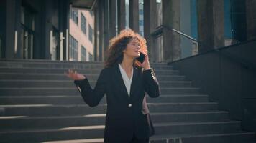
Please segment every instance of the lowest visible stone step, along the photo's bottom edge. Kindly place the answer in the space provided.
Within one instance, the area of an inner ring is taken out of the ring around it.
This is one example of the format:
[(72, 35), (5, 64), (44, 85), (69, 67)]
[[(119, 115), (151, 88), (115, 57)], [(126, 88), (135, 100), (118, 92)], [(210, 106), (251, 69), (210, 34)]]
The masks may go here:
[[(150, 138), (150, 143), (255, 143), (254, 132), (217, 132), (217, 133), (191, 133), (191, 134), (166, 134), (155, 135)], [(103, 138), (97, 139), (68, 139), (47, 141), (42, 143), (103, 143)]]

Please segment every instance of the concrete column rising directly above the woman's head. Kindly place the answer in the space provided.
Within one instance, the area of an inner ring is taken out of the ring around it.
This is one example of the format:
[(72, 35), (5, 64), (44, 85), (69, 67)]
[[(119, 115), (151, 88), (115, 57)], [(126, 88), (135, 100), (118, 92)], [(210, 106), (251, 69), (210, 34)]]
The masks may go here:
[(139, 32), (139, 1), (129, 0), (129, 27)]

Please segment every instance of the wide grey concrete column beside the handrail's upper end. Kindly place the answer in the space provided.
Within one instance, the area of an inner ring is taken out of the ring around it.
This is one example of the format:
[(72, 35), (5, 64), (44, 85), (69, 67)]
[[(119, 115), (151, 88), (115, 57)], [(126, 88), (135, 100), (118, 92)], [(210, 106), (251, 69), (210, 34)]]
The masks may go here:
[[(163, 0), (163, 25), (180, 31), (180, 1)], [(175, 61), (180, 59), (180, 35), (163, 29), (163, 59)]]

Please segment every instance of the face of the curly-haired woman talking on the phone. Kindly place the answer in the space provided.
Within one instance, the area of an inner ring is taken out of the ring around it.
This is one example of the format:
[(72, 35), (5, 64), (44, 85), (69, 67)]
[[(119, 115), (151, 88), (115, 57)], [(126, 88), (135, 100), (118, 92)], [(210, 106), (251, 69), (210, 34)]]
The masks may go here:
[(140, 56), (140, 45), (137, 39), (132, 38), (129, 41), (126, 49), (124, 49), (124, 55), (133, 57), (134, 59)]

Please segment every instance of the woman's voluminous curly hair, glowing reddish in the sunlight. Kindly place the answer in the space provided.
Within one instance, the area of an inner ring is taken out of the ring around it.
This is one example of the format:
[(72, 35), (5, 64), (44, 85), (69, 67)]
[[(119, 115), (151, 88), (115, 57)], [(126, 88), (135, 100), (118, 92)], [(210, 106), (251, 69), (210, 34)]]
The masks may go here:
[[(140, 36), (140, 34), (135, 33), (132, 29), (124, 29), (120, 31), (120, 34), (115, 36), (109, 41), (109, 48), (106, 51), (106, 61), (104, 63), (105, 67), (113, 66), (114, 64), (121, 63), (123, 60), (123, 50), (126, 49), (127, 44), (132, 38), (138, 40), (140, 45), (140, 51), (147, 54), (147, 44), (146, 40)], [(139, 61), (134, 60), (135, 66), (140, 66), (137, 64)]]

